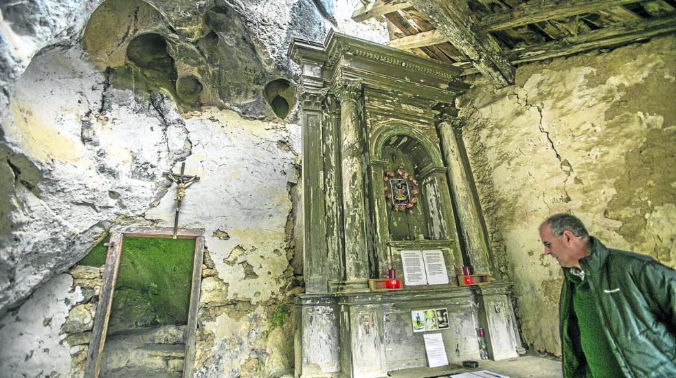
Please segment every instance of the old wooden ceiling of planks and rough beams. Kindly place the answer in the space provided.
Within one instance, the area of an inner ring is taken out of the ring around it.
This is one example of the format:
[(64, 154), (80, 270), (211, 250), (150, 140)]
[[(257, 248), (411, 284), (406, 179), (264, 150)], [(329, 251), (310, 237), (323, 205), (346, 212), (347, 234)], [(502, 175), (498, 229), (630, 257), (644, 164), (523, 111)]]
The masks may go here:
[(388, 45), (480, 72), (496, 87), (514, 67), (676, 32), (676, 0), (361, 0), (354, 21), (387, 21)]

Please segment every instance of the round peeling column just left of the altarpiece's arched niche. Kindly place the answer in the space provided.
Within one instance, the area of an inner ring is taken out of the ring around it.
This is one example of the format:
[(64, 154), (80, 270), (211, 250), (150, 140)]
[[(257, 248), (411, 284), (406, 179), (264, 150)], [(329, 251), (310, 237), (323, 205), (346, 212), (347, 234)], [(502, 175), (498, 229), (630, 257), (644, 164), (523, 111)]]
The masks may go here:
[[(361, 287), (368, 280), (368, 241), (365, 204), (365, 141), (361, 80), (339, 79), (341, 189), (345, 234), (346, 283)], [(350, 282), (352, 281), (352, 282)], [(362, 282), (363, 281), (363, 282)]]

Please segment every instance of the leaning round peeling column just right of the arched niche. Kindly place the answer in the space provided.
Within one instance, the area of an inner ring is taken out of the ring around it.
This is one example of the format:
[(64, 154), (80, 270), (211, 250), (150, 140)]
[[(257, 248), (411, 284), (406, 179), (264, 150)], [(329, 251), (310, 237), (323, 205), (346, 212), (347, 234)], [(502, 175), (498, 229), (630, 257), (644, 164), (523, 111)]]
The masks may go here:
[(488, 243), (484, 233), (482, 214), (473, 191), (472, 175), (462, 143), (462, 122), (442, 114), (438, 123), (441, 149), (448, 166), (448, 179), (455, 199), (464, 249), (475, 272), (493, 271)]

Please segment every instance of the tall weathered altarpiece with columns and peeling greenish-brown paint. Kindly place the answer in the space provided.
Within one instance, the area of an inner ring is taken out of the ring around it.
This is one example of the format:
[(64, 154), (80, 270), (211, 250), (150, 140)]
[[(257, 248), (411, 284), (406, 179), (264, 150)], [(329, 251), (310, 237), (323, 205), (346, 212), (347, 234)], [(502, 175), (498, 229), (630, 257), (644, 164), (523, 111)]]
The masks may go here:
[[(386, 377), (427, 365), (411, 311), (447, 308), (449, 361), (517, 357), (511, 285), (458, 286), (455, 271), (497, 274), (462, 145), (453, 99), (466, 89), (451, 65), (330, 32), (293, 40), (302, 68), (304, 279), (295, 299), (296, 375)], [(396, 211), (386, 177), (416, 179), (417, 203)], [(409, 212), (412, 210), (412, 212)], [(403, 275), (402, 250), (441, 250), (449, 284), (370, 291)], [(495, 276), (494, 276), (495, 278)]]

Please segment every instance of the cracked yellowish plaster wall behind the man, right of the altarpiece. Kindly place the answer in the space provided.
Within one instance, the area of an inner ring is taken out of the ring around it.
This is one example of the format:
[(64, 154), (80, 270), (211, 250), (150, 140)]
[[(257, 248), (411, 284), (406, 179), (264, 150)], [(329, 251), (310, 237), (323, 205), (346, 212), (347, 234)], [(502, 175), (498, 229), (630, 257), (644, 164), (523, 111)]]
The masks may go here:
[(563, 275), (537, 227), (572, 212), (611, 247), (676, 267), (676, 36), (533, 63), (458, 100), (493, 251), (523, 341), (561, 353)]

